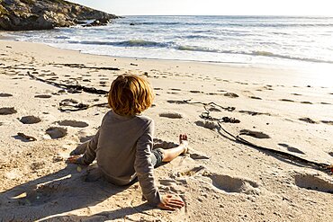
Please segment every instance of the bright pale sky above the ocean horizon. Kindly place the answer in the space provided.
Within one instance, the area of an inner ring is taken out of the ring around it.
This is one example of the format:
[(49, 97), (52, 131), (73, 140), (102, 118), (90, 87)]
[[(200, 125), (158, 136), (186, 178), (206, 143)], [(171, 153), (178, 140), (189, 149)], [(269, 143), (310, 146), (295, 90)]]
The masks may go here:
[(322, 15), (331, 0), (67, 0), (117, 15)]

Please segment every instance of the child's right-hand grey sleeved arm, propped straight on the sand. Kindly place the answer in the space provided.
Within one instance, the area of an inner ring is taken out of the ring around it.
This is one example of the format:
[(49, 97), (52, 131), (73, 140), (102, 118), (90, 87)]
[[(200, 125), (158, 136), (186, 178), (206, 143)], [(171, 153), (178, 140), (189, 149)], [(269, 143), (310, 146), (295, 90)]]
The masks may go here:
[(137, 154), (134, 168), (138, 175), (139, 185), (141, 186), (143, 196), (148, 203), (156, 207), (161, 201), (161, 196), (154, 181), (153, 169), (150, 155), (153, 146), (154, 124), (149, 122), (148, 128), (137, 142)]

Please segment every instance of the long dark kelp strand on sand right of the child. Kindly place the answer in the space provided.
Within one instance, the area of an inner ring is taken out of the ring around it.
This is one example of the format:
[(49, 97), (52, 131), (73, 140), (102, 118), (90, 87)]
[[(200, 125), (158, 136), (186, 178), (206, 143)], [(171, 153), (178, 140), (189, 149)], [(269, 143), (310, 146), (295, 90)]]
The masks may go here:
[[(200, 117), (204, 120), (216, 121), (218, 123), (219, 127), (220, 127), (220, 129), (219, 129), (220, 134), (222, 135), (222, 133), (220, 131), (220, 130), (222, 130), (224, 133), (229, 135), (229, 137), (233, 138), (234, 141), (237, 141), (238, 143), (244, 144), (248, 147), (254, 147), (254, 148), (256, 148), (257, 150), (260, 150), (260, 151), (266, 151), (268, 153), (273, 153), (273, 154), (278, 155), (280, 157), (284, 157), (284, 158), (286, 158), (290, 161), (294, 161), (294, 162), (298, 162), (298, 163), (302, 163), (302, 164), (307, 164), (307, 165), (310, 165), (312, 167), (315, 166), (318, 170), (323, 171), (325, 173), (328, 173), (328, 172), (332, 173), (333, 172), (333, 164), (329, 165), (329, 164), (317, 163), (317, 162), (314, 162), (314, 161), (304, 159), (304, 158), (302, 158), (300, 156), (297, 156), (297, 155), (292, 155), (292, 154), (289, 154), (289, 153), (285, 153), (285, 152), (280, 151), (280, 150), (275, 150), (275, 149), (268, 148), (268, 147), (260, 147), (260, 146), (257, 146), (256, 144), (253, 144), (253, 143), (247, 141), (244, 138), (240, 138), (239, 135), (238, 136), (232, 135), (231, 133), (229, 133), (228, 130), (222, 128), (220, 123), (223, 122), (224, 120), (211, 117), (210, 111), (207, 109), (208, 105), (218, 106), (218, 107), (220, 107), (224, 110), (227, 110), (227, 111), (229, 110), (229, 109), (221, 107), (220, 105), (218, 105), (214, 102), (206, 103), (206, 102), (191, 102), (191, 100), (184, 100), (184, 103), (202, 104), (203, 108), (205, 109), (205, 112), (202, 112), (202, 115)], [(233, 110), (235, 110), (235, 109), (233, 109)]]

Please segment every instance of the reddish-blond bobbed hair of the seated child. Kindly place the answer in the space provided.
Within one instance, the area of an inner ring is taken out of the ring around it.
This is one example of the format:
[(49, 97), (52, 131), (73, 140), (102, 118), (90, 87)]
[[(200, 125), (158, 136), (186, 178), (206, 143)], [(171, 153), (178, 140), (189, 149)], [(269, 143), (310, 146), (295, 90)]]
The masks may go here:
[(146, 111), (153, 99), (150, 84), (138, 75), (119, 75), (112, 82), (108, 95), (110, 107), (121, 116), (134, 116)]

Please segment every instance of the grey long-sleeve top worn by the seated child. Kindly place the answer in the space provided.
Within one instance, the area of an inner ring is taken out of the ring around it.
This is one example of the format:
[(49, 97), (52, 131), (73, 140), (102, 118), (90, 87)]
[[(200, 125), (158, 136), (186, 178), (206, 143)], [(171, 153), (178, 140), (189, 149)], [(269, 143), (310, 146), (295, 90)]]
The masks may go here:
[(94, 138), (86, 143), (81, 161), (91, 164), (96, 159), (106, 179), (117, 185), (129, 184), (138, 176), (143, 196), (156, 206), (161, 197), (150, 160), (153, 134), (154, 121), (150, 118), (124, 117), (109, 111)]

